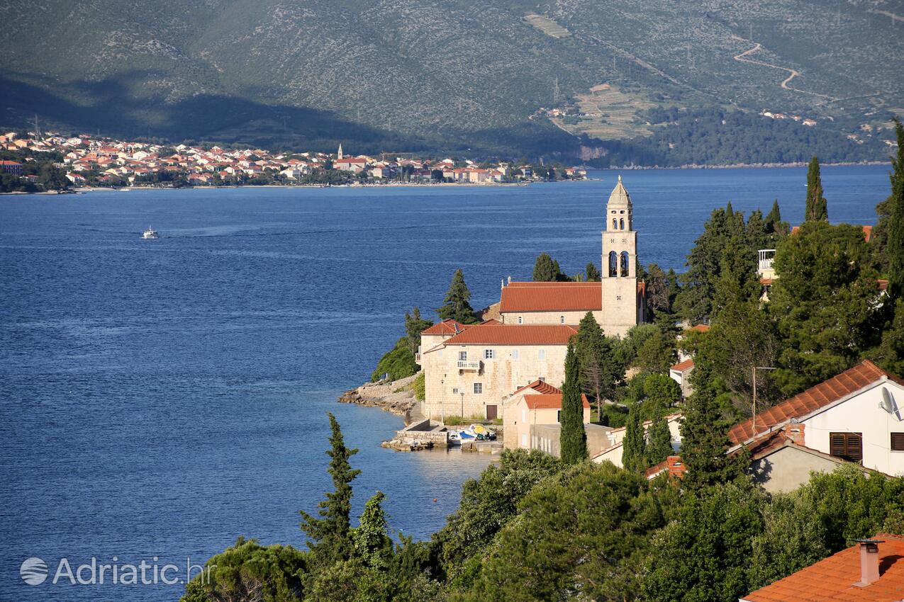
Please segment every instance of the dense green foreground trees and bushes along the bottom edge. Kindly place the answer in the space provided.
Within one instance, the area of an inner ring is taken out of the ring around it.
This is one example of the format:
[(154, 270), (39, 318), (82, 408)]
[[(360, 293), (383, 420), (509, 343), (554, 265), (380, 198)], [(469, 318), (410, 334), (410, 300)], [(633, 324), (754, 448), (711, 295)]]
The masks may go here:
[(767, 495), (739, 471), (685, 486), (612, 464), (503, 453), (466, 482), (429, 542), (394, 541), (377, 492), (351, 526), (357, 475), (330, 416), (334, 491), (302, 513), (308, 550), (240, 538), (183, 602), (680, 600), (734, 602), (879, 530), (902, 533), (904, 479), (852, 466)]

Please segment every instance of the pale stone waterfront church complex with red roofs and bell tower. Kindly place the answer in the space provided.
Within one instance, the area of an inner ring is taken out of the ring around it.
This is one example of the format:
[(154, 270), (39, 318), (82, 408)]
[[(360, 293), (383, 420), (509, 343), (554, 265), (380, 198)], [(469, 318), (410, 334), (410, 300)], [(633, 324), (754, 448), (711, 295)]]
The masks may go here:
[(498, 320), (444, 320), (425, 330), (418, 358), (425, 414), (438, 421), (501, 418), (503, 401), (524, 385), (561, 386), (569, 340), (588, 311), (609, 336), (624, 337), (645, 321), (634, 212), (621, 176), (609, 195), (601, 242), (601, 282), (507, 282)]

